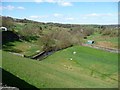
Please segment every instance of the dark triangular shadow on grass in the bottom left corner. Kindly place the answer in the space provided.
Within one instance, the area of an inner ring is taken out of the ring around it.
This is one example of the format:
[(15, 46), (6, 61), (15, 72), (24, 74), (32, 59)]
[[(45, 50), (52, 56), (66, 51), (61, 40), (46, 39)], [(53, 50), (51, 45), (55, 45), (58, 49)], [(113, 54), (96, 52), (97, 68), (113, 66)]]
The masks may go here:
[[(2, 68), (0, 68), (0, 69), (2, 69)], [(39, 90), (35, 86), (28, 84), (24, 80), (14, 76), (13, 74), (7, 72), (4, 69), (2, 69), (2, 83), (3, 83), (3, 85), (5, 84), (7, 86), (17, 87), (20, 90), (24, 90), (24, 89)]]

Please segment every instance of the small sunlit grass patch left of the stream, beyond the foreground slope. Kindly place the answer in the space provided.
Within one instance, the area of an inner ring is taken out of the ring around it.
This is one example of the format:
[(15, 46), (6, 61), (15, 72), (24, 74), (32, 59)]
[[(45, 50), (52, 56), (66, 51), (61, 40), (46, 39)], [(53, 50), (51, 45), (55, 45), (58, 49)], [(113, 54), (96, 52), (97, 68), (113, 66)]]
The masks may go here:
[(3, 50), (10, 51), (10, 52), (17, 52), (21, 53), (25, 56), (32, 56), (37, 51), (42, 51), (42, 44), (38, 44), (38, 41), (27, 42), (27, 41), (15, 41), (9, 42), (8, 45), (3, 48)]

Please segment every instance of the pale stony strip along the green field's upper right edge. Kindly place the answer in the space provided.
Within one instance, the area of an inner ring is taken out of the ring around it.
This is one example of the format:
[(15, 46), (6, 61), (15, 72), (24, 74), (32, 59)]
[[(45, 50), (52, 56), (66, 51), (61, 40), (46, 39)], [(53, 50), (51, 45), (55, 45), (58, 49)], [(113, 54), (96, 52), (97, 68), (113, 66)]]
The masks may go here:
[(88, 46), (88, 47), (92, 47), (92, 48), (96, 48), (96, 49), (100, 49), (100, 50), (104, 50), (104, 51), (108, 51), (108, 52), (113, 52), (113, 53), (120, 53), (120, 50), (114, 49), (114, 48), (106, 48), (106, 47), (102, 47), (102, 46), (88, 45), (88, 44), (82, 44), (82, 46)]

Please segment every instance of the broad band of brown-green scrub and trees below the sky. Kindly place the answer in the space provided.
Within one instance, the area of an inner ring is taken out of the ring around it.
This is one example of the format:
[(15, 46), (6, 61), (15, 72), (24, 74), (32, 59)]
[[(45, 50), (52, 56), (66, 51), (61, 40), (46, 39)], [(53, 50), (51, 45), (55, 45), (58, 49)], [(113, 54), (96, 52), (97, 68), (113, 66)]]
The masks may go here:
[(45, 51), (80, 45), (86, 42), (84, 39), (96, 33), (101, 35), (99, 38), (119, 36), (117, 25), (72, 25), (42, 23), (11, 17), (2, 18), (2, 26), (16, 33), (23, 41), (38, 40), (40, 44), (42, 43), (42, 49)]

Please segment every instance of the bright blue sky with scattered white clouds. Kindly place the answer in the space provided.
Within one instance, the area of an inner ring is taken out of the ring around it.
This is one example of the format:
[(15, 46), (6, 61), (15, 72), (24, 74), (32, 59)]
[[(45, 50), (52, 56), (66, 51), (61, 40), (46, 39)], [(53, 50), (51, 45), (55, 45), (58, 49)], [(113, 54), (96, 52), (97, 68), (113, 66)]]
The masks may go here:
[(117, 24), (118, 2), (2, 2), (2, 16), (63, 24)]

